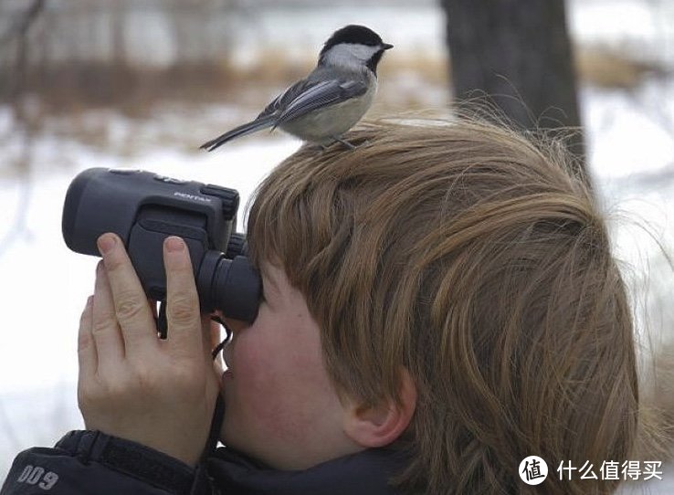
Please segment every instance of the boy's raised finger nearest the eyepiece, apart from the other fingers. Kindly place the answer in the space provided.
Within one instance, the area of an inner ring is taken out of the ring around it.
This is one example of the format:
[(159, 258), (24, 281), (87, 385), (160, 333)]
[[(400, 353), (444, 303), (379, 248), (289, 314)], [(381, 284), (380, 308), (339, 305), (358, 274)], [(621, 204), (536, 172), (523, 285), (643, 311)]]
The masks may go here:
[(174, 350), (190, 355), (203, 349), (199, 298), (189, 251), (180, 237), (166, 237), (163, 243), (166, 269), (166, 321), (168, 341)]

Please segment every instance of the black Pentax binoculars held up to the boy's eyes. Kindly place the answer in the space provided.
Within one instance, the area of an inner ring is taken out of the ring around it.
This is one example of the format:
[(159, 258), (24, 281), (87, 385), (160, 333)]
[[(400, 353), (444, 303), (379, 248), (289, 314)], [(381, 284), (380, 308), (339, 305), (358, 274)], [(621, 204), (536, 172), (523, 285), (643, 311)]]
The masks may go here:
[(140, 170), (90, 168), (73, 179), (63, 207), (63, 238), (75, 252), (100, 256), (96, 241), (114, 232), (148, 298), (166, 299), (163, 240), (184, 239), (203, 313), (252, 322), (261, 281), (235, 233), (239, 196), (219, 185)]

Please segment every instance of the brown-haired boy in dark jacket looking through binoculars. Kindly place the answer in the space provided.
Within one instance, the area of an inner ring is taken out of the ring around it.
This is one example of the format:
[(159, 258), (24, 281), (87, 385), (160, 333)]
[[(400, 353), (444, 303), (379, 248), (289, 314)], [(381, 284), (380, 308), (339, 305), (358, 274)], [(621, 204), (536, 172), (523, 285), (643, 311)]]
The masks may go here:
[[(479, 122), (349, 141), (302, 148), (258, 188), (264, 297), (252, 324), (226, 321), (221, 379), (184, 243), (164, 244), (161, 342), (120, 240), (100, 238), (79, 332), (88, 431), (20, 454), (2, 495), (616, 489), (554, 470), (622, 462), (637, 435), (626, 289), (583, 181)], [(550, 465), (541, 487), (519, 472), (530, 455)]]

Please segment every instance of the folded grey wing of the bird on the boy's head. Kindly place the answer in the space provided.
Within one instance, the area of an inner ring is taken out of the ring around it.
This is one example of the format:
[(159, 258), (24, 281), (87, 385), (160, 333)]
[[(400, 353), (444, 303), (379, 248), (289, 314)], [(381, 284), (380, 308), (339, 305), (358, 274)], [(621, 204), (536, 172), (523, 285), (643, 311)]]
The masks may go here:
[(275, 125), (297, 119), (321, 107), (341, 103), (363, 95), (364, 81), (352, 79), (303, 79), (291, 86), (259, 114), (258, 118), (276, 113)]

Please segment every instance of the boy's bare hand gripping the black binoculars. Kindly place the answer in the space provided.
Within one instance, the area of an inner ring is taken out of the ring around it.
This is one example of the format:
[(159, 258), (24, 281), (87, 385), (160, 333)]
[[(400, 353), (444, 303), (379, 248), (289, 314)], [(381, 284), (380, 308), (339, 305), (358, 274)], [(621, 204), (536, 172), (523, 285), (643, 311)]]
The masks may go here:
[(99, 238), (94, 295), (79, 323), (79, 409), (88, 429), (155, 448), (195, 466), (218, 394), (210, 320), (199, 313), (184, 241), (168, 237), (168, 337), (157, 337), (153, 309), (119, 237)]

